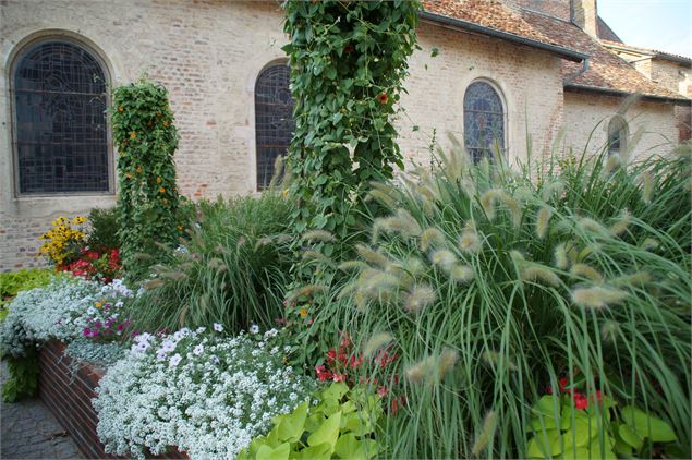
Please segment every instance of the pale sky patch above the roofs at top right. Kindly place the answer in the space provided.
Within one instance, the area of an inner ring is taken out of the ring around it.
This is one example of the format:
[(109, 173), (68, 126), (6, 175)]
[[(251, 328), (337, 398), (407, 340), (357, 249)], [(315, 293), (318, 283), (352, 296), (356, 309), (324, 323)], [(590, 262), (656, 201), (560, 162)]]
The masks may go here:
[(597, 8), (626, 44), (692, 58), (692, 0), (598, 0)]

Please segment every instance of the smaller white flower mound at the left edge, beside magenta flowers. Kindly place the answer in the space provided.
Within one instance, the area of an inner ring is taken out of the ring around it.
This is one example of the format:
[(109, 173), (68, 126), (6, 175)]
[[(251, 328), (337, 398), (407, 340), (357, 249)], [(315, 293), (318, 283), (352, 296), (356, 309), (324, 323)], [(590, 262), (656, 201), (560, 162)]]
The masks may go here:
[(53, 338), (70, 341), (82, 336), (87, 311), (94, 310), (96, 302), (133, 295), (121, 280), (100, 285), (80, 277), (56, 279), (44, 288), (22, 291), (8, 306), (9, 314), (0, 324), (0, 348), (4, 353), (21, 356), (27, 347)]

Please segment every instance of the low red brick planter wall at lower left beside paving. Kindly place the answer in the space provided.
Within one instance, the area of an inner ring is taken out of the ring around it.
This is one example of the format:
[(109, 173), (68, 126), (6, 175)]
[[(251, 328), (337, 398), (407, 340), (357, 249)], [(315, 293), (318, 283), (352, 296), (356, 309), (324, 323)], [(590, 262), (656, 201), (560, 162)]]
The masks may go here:
[[(51, 340), (38, 352), (38, 395), (87, 459), (118, 458), (104, 451), (96, 434), (98, 416), (92, 407), (92, 398), (96, 397), (95, 388), (102, 374), (88, 365), (80, 365), (73, 373), (70, 368), (72, 360), (63, 354), (64, 348), (63, 343)], [(155, 458), (187, 459), (185, 453), (171, 450)]]

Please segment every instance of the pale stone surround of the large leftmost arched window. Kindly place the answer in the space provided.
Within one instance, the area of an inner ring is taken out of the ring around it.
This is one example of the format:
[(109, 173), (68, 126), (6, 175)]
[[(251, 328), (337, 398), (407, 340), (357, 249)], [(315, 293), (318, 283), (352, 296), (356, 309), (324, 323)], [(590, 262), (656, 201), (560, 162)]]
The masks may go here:
[[(104, 78), (106, 92), (106, 146), (107, 146), (107, 168), (108, 168), (108, 190), (106, 191), (88, 191), (88, 192), (52, 192), (52, 193), (21, 193), (20, 192), (20, 168), (19, 168), (19, 152), (17, 152), (17, 136), (16, 136), (16, 107), (14, 98), (14, 75), (17, 64), (21, 62), (24, 53), (31, 50), (33, 47), (40, 43), (50, 41), (63, 41), (77, 46), (87, 52), (97, 61), (101, 71), (104, 72)], [(70, 31), (56, 31), (46, 29), (32, 34), (25, 39), (21, 40), (12, 50), (7, 65), (5, 78), (8, 82), (8, 108), (9, 108), (9, 126), (10, 126), (10, 161), (12, 165), (12, 193), (17, 199), (32, 199), (32, 198), (59, 198), (59, 197), (86, 197), (86, 196), (114, 196), (117, 191), (116, 183), (116, 154), (112, 143), (112, 128), (111, 120), (108, 116), (108, 110), (111, 107), (111, 95), (108, 90), (112, 84), (112, 69), (105, 58), (105, 53), (86, 37), (82, 37)]]

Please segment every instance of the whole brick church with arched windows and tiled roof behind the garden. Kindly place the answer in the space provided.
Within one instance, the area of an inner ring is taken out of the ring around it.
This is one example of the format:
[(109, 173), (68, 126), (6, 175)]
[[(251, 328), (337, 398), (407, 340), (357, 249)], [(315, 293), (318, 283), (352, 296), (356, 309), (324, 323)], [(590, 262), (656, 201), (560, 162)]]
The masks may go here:
[[(424, 7), (397, 122), (409, 162), (434, 134), (510, 161), (527, 137), (534, 156), (641, 156), (690, 136), (692, 61), (622, 44), (596, 0)], [(292, 126), (282, 20), (277, 1), (0, 0), (0, 270), (40, 264), (56, 216), (116, 203), (107, 93), (143, 74), (170, 92), (182, 193), (260, 190)]]

